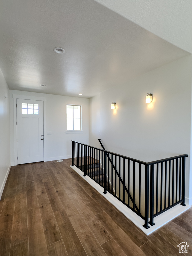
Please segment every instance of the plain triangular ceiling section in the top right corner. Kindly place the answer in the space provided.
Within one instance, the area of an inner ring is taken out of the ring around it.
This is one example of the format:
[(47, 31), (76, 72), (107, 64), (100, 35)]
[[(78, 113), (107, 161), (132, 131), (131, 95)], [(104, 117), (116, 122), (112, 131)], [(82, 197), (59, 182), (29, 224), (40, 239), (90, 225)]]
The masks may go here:
[(95, 0), (123, 17), (192, 53), (191, 0)]

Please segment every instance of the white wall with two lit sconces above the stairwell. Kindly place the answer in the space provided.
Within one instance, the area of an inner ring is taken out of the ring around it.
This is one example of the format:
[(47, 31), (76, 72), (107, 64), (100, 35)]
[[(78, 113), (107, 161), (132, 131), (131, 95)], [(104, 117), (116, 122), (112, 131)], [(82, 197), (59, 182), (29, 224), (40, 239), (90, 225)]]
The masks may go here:
[[(187, 56), (102, 92), (100, 102), (91, 99), (90, 105), (100, 104), (100, 137), (106, 150), (145, 162), (190, 155), (191, 71), (192, 57)], [(147, 93), (154, 96), (150, 104), (145, 103)], [(117, 103), (115, 110), (110, 109), (112, 102)], [(96, 136), (90, 134), (90, 141)], [(188, 158), (186, 197), (192, 198), (189, 177)]]

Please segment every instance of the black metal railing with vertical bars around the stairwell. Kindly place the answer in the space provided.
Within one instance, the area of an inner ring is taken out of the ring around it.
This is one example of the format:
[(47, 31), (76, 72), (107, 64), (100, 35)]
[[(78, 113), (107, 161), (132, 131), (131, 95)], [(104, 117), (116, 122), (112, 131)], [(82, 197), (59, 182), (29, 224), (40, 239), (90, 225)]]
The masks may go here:
[(185, 206), (186, 157), (146, 163), (72, 141), (72, 166), (144, 219), (146, 229), (155, 216), (179, 203)]

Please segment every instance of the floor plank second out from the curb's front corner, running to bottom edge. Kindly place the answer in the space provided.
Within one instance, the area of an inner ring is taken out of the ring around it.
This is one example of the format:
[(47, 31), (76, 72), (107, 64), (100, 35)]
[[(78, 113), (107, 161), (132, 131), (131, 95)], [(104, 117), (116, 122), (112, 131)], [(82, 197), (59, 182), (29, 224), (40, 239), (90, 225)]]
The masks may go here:
[(125, 232), (107, 215), (101, 212), (96, 215), (112, 238), (127, 255), (145, 255), (139, 247), (125, 234)]

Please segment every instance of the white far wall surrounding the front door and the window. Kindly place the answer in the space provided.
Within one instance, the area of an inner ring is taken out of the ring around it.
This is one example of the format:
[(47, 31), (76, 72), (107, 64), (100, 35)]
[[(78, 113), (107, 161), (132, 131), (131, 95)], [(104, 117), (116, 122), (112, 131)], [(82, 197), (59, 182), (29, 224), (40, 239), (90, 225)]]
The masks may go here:
[[(10, 90), (11, 164), (14, 161), (13, 95), (45, 97), (44, 106), (44, 161), (71, 158), (71, 140), (88, 144), (89, 100), (44, 93)], [(82, 105), (82, 133), (66, 133), (66, 104)], [(47, 132), (51, 132), (47, 135)]]

